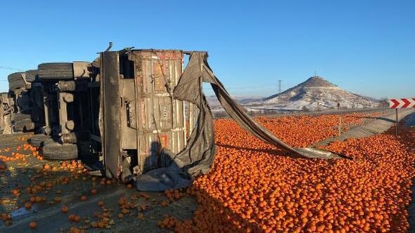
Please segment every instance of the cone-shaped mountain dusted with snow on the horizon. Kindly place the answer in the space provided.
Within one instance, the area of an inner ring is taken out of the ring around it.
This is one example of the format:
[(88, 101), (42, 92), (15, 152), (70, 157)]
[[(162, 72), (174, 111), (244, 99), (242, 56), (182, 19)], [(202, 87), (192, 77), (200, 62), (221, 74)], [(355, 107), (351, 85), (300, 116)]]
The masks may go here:
[(377, 107), (379, 100), (345, 91), (319, 76), (267, 98), (244, 102), (250, 111), (258, 110), (324, 110), (341, 108)]

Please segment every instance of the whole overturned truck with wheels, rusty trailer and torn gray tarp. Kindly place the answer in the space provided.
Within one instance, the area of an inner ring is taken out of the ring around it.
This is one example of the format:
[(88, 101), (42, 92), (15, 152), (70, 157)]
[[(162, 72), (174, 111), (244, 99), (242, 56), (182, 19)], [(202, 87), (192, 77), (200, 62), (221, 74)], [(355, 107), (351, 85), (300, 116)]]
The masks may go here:
[(207, 82), (226, 112), (257, 138), (292, 156), (332, 155), (292, 148), (253, 121), (207, 59), (206, 52), (126, 48), (102, 52), (94, 62), (43, 63), (34, 85), (43, 105), (32, 109), (41, 109), (44, 125), (32, 140), (46, 159), (83, 159), (91, 170), (134, 180), (141, 190), (185, 187), (208, 173), (215, 158), (202, 90)]

